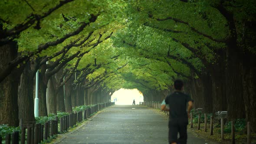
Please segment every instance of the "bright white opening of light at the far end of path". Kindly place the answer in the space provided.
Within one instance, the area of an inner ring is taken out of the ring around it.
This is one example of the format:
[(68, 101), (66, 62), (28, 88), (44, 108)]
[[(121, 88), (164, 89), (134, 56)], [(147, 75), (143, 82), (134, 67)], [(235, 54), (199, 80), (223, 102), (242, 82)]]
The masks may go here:
[(144, 101), (143, 94), (138, 89), (121, 88), (111, 96), (111, 101), (115, 101), (115, 105), (132, 105), (133, 100), (136, 105)]

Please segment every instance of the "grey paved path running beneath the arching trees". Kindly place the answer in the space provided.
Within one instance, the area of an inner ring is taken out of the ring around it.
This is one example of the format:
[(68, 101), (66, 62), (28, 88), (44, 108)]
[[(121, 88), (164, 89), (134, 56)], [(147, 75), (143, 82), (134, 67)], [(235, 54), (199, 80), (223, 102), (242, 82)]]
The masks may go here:
[[(113, 105), (59, 144), (167, 144), (168, 118), (144, 106)], [(187, 144), (212, 144), (188, 133)]]

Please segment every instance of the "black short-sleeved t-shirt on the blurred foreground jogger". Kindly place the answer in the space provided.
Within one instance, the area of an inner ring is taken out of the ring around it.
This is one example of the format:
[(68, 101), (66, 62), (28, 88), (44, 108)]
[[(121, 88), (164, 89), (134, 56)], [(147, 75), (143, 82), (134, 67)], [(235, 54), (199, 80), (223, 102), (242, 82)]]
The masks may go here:
[(169, 105), (170, 112), (169, 117), (170, 121), (173, 120), (187, 120), (187, 102), (193, 101), (189, 95), (186, 95), (182, 92), (174, 92), (171, 95), (168, 95), (165, 98), (165, 103)]

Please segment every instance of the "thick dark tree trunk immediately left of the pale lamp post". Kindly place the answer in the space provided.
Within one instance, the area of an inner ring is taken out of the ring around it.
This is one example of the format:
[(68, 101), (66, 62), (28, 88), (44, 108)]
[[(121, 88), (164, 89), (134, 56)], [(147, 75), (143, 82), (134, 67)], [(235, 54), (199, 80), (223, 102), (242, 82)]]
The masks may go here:
[(20, 76), (18, 88), (19, 118), (23, 121), (35, 121), (33, 104), (33, 79), (34, 73), (30, 69), (30, 62), (27, 62), (25, 69)]

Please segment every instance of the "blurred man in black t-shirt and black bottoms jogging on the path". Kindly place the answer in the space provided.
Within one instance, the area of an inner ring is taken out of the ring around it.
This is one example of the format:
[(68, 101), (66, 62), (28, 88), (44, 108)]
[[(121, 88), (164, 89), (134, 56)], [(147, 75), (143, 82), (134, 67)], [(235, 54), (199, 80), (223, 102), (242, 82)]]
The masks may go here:
[[(161, 110), (169, 110), (169, 143), (187, 144), (187, 124), (193, 100), (182, 92), (184, 87), (181, 80), (174, 81), (174, 88), (175, 92), (167, 95), (161, 105)], [(169, 105), (169, 109), (166, 105)], [(177, 139), (178, 133), (180, 137)]]

